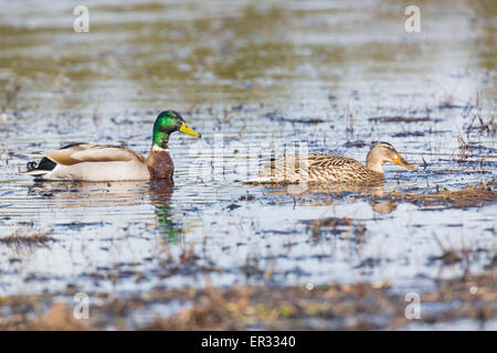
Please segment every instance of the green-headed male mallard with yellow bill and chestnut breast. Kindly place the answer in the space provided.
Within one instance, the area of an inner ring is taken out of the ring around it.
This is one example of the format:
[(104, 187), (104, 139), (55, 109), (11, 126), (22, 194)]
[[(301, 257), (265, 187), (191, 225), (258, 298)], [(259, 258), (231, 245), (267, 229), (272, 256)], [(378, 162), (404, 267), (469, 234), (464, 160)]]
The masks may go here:
[(173, 164), (168, 141), (175, 131), (200, 137), (179, 113), (167, 110), (159, 114), (154, 124), (152, 146), (147, 158), (119, 146), (74, 143), (44, 152), (45, 158), (40, 163), (28, 163), (25, 174), (44, 180), (172, 180)]

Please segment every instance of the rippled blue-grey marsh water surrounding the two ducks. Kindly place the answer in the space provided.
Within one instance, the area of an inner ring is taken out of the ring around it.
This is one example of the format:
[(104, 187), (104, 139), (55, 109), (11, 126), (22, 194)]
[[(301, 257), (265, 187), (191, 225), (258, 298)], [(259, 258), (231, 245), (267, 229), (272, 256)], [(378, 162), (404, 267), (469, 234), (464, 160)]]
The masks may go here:
[[(358, 281), (406, 293), (494, 266), (496, 203), (382, 200), (495, 180), (495, 132), (478, 129), (496, 107), (493, 2), (421, 1), (421, 33), (402, 1), (86, 1), (88, 33), (73, 30), (77, 4), (0, 2), (0, 235), (46, 234), (0, 243), (0, 296)], [(172, 135), (173, 186), (20, 174), (67, 142), (146, 154), (165, 109), (202, 133)], [(385, 164), (374, 189), (241, 183), (285, 145), (363, 161), (378, 140), (419, 171)], [(313, 233), (330, 217), (350, 224)], [(472, 256), (447, 265), (444, 249)]]

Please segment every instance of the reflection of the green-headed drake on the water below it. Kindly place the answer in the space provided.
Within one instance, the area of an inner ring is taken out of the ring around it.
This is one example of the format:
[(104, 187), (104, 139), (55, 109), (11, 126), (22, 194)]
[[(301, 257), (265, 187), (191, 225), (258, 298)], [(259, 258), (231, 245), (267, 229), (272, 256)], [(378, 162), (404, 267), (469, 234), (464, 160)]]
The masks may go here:
[[(173, 182), (35, 182), (28, 193), (43, 199), (57, 224), (102, 223), (123, 227), (131, 220), (140, 223), (150, 217), (154, 207), (158, 228), (167, 242), (177, 242), (181, 226), (172, 220)], [(147, 197), (147, 193), (149, 197)], [(148, 200), (149, 204), (148, 204)], [(145, 218), (145, 220), (144, 220)]]

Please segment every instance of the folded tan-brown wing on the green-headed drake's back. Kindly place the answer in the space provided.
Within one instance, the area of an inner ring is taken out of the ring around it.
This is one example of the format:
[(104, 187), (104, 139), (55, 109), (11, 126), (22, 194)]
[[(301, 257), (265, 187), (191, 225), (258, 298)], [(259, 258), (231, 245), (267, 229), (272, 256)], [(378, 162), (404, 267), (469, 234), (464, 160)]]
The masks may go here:
[(63, 165), (83, 162), (127, 162), (131, 160), (145, 162), (145, 158), (134, 150), (109, 145), (77, 143), (60, 150), (47, 151), (43, 154), (51, 161)]

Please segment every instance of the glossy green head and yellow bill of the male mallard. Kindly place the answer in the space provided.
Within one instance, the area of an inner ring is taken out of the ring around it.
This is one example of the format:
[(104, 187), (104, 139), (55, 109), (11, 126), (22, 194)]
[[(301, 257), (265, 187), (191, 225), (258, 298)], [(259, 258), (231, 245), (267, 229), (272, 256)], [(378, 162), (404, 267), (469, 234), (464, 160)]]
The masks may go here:
[(165, 110), (157, 116), (154, 124), (154, 145), (168, 148), (169, 135), (175, 131), (201, 137), (199, 132), (188, 126), (181, 114), (175, 110)]

